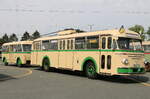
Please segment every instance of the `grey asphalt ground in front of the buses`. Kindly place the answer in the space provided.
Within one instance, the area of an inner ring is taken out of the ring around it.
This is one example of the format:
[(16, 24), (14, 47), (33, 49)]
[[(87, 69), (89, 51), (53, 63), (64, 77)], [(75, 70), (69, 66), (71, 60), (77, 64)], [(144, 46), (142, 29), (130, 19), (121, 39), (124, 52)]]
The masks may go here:
[(77, 72), (1, 64), (0, 99), (150, 99), (150, 73), (135, 79), (140, 82), (104, 76), (91, 80)]

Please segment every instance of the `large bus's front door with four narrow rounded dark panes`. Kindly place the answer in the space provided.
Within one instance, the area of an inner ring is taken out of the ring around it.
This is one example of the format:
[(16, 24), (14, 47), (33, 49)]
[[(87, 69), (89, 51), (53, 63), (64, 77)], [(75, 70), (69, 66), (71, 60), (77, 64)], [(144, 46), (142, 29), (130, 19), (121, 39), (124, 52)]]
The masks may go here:
[(112, 37), (100, 37), (101, 53), (100, 53), (100, 72), (111, 73), (111, 60), (112, 60)]

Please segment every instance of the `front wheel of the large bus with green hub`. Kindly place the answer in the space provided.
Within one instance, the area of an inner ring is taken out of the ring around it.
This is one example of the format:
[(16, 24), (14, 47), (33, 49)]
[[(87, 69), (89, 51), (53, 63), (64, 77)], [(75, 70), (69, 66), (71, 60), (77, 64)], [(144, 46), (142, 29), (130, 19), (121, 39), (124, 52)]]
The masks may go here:
[(86, 76), (91, 79), (97, 78), (96, 68), (93, 62), (89, 61), (85, 69)]

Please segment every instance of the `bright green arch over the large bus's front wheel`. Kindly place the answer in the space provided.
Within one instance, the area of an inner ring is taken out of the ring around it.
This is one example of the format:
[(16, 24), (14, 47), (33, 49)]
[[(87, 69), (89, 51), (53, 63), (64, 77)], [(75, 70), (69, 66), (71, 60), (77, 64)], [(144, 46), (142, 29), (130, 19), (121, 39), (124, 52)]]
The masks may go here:
[(96, 72), (98, 73), (98, 67), (97, 67), (97, 63), (95, 61), (95, 59), (93, 57), (86, 57), (83, 62), (82, 62), (82, 65), (81, 65), (81, 71), (84, 71), (85, 67), (86, 67), (86, 64), (87, 62), (93, 62), (94, 63), (94, 66), (95, 66), (95, 69), (96, 69)]

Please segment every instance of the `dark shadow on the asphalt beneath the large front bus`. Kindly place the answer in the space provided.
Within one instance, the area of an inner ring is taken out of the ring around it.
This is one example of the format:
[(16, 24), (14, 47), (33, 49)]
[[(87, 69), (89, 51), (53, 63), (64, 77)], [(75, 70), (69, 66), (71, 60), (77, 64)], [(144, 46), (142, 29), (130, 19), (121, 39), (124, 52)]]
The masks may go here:
[[(35, 70), (43, 71), (41, 68), (35, 68)], [(80, 71), (70, 71), (70, 70), (61, 70), (61, 69), (51, 68), (50, 72), (86, 78), (83, 72), (80, 72)], [(149, 78), (146, 76), (104, 76), (104, 75), (98, 75), (98, 78), (95, 80), (101, 80), (101, 81), (113, 82), (113, 83), (123, 83), (123, 84), (139, 83), (137, 81), (134, 81), (128, 78), (134, 78), (140, 82), (149, 81)]]

